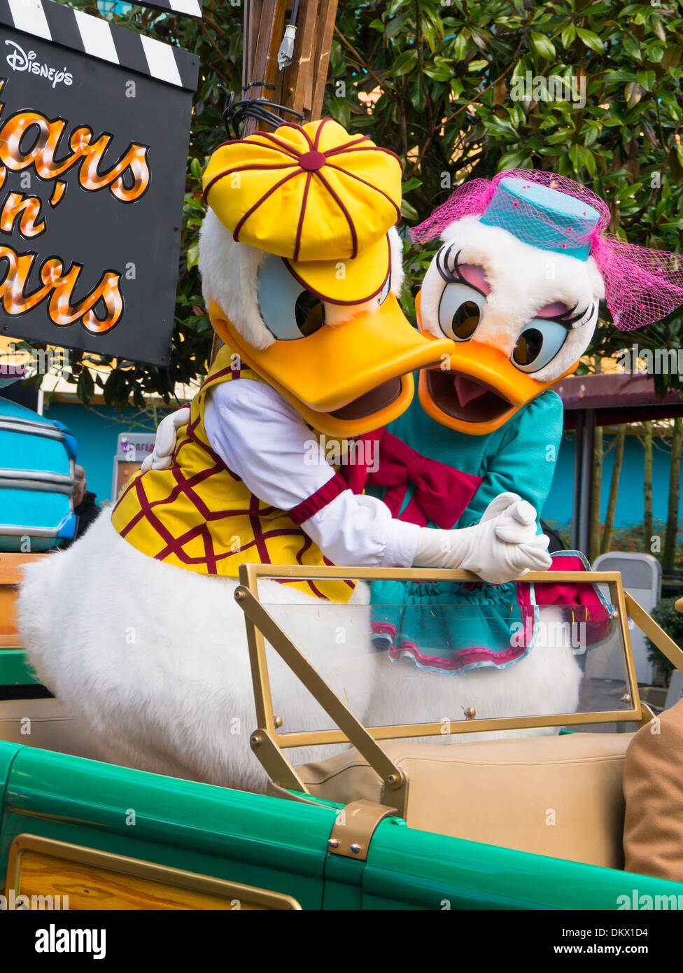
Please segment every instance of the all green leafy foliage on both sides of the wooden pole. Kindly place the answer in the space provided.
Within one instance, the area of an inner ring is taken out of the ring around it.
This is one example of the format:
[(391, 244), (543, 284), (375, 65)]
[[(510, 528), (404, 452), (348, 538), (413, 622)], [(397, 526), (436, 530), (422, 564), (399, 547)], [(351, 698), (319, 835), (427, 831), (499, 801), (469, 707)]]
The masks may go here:
[[(131, 397), (137, 403), (142, 391), (167, 400), (174, 382), (205, 369), (211, 330), (197, 272), (199, 174), (224, 135), (219, 86), (239, 87), (241, 8), (208, 0), (204, 9), (200, 25), (139, 8), (117, 18), (196, 52), (202, 69), (173, 363), (167, 371), (118, 365), (105, 386), (108, 402)], [(465, 178), (533, 166), (593, 186), (610, 205), (613, 233), (676, 250), (683, 229), (682, 54), (679, 11), (665, 0), (353, 0), (340, 3), (325, 111), (402, 158), (409, 223), (424, 219)], [(579, 97), (513, 98), (527, 72), (532, 79), (563, 79)], [(434, 249), (407, 249), (407, 309)], [(636, 335), (643, 347), (679, 347), (682, 333), (677, 313)], [(628, 342), (601, 322), (593, 353), (610, 355)], [(657, 377), (661, 388), (668, 378)], [(87, 398), (85, 379), (75, 380)]]

